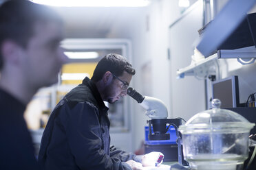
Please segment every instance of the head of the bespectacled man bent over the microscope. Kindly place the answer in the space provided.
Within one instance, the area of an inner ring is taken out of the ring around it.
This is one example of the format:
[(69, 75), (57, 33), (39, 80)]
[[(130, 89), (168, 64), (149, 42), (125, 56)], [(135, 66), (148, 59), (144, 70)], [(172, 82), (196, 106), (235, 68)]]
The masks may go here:
[(92, 81), (103, 82), (103, 91), (101, 92), (103, 100), (109, 103), (118, 101), (121, 97), (127, 95), (127, 88), (131, 82), (131, 77), (136, 71), (132, 68), (127, 59), (119, 54), (110, 53), (98, 62)]

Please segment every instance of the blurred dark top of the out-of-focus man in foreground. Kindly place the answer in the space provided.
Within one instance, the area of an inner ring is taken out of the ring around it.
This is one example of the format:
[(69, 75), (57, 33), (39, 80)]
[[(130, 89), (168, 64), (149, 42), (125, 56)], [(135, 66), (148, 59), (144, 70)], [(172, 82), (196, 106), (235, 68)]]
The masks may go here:
[(21, 101), (0, 88), (0, 169), (39, 169), (24, 111)]

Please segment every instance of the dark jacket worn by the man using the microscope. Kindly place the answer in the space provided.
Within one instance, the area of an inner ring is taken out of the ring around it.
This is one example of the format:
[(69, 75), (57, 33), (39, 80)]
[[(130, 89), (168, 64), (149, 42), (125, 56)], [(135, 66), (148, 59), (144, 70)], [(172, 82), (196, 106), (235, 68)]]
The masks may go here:
[(39, 164), (45, 169), (131, 169), (135, 159), (110, 148), (108, 108), (85, 78), (58, 103), (45, 127)]

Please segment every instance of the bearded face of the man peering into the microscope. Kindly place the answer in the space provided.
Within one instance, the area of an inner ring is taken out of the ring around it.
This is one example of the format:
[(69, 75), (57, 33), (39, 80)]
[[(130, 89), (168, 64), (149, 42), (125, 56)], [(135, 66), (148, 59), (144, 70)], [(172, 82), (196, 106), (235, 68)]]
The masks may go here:
[(127, 95), (127, 87), (123, 87), (124, 84), (122, 82), (125, 82), (129, 85), (132, 75), (124, 71), (122, 76), (118, 77), (120, 80), (122, 80), (122, 82), (115, 78), (114, 75), (112, 76), (113, 79), (111, 84), (105, 88), (107, 101), (111, 104), (113, 104), (115, 101), (118, 101), (121, 97)]

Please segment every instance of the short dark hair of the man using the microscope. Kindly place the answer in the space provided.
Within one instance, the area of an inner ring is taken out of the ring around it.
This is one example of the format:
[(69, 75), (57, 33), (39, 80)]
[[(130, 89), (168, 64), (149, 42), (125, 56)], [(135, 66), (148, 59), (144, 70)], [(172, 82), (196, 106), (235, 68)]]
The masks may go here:
[(136, 73), (127, 59), (116, 53), (109, 53), (98, 62), (94, 70), (94, 75), (92, 75), (92, 81), (98, 82), (107, 71), (110, 71), (116, 76), (121, 76), (124, 71), (131, 75), (135, 75)]

